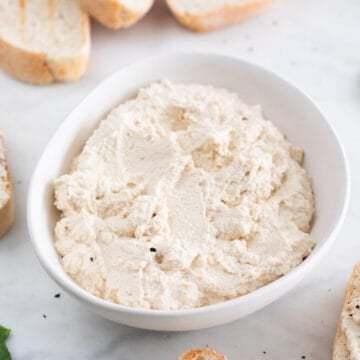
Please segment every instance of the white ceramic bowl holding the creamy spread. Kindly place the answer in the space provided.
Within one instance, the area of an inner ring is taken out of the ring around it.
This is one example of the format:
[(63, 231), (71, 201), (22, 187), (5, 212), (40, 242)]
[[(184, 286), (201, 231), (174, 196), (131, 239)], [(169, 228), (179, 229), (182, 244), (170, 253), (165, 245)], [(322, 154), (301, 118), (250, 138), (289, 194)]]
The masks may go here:
[[(99, 120), (117, 104), (153, 81), (195, 82), (236, 91), (249, 104), (261, 104), (265, 116), (305, 149), (305, 167), (313, 177), (316, 217), (311, 231), (317, 245), (301, 265), (248, 295), (220, 304), (182, 311), (134, 309), (99, 299), (80, 288), (63, 270), (55, 252), (53, 180), (81, 151)], [(349, 175), (342, 147), (318, 108), (278, 76), (245, 61), (212, 54), (173, 54), (121, 69), (101, 83), (63, 122), (34, 172), (28, 197), (32, 242), (48, 274), (90, 310), (110, 320), (153, 330), (193, 330), (224, 324), (280, 298), (319, 262), (339, 230), (349, 197)]]

